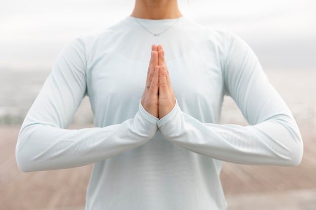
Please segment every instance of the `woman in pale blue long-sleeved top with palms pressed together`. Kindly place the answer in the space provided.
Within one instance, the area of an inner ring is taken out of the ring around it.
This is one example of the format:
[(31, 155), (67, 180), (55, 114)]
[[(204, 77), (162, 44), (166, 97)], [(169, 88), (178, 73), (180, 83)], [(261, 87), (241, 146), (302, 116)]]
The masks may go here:
[[(85, 95), (96, 127), (66, 129)], [(224, 95), (249, 126), (217, 124)], [(85, 209), (226, 209), (222, 161), (297, 165), (302, 140), (241, 39), (182, 17), (176, 0), (136, 0), (61, 52), (16, 156), (23, 171), (94, 163)]]

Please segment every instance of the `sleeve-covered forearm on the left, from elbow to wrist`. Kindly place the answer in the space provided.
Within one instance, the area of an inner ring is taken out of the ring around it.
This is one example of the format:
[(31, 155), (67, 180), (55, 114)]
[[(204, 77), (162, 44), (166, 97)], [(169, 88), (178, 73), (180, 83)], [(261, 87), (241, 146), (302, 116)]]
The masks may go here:
[(79, 130), (30, 122), (27, 117), (16, 148), (18, 166), (25, 172), (78, 167), (145, 144), (157, 131), (157, 119), (139, 108), (122, 124)]

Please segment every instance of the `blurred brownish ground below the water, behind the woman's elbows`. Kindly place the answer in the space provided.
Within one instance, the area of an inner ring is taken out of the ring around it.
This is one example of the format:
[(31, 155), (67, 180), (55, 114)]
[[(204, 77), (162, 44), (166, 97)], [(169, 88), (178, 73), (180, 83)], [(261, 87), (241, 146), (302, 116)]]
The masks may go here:
[[(83, 210), (92, 166), (19, 171), (15, 161), (19, 128), (0, 126), (0, 210)], [(300, 129), (304, 156), (297, 167), (224, 163), (221, 178), (228, 210), (316, 209), (316, 129)]]

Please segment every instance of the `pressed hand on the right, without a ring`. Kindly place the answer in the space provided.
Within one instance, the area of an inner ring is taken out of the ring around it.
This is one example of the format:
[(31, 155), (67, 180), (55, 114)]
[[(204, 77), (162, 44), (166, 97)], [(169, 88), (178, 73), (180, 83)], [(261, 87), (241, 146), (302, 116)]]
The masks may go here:
[(169, 71), (165, 60), (165, 51), (162, 45), (157, 47), (159, 65), (159, 97), (158, 97), (158, 116), (159, 119), (166, 116), (176, 104), (174, 91), (171, 87)]

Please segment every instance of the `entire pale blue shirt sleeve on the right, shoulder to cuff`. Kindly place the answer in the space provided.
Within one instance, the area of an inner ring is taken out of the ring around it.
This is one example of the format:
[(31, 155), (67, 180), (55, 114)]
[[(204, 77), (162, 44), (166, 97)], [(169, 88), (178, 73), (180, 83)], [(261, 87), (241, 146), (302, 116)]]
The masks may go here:
[(202, 123), (174, 109), (157, 122), (171, 142), (198, 154), (246, 165), (295, 166), (302, 158), (298, 126), (283, 99), (269, 83), (257, 57), (239, 37), (228, 34), (223, 69), (227, 95), (248, 126)]

